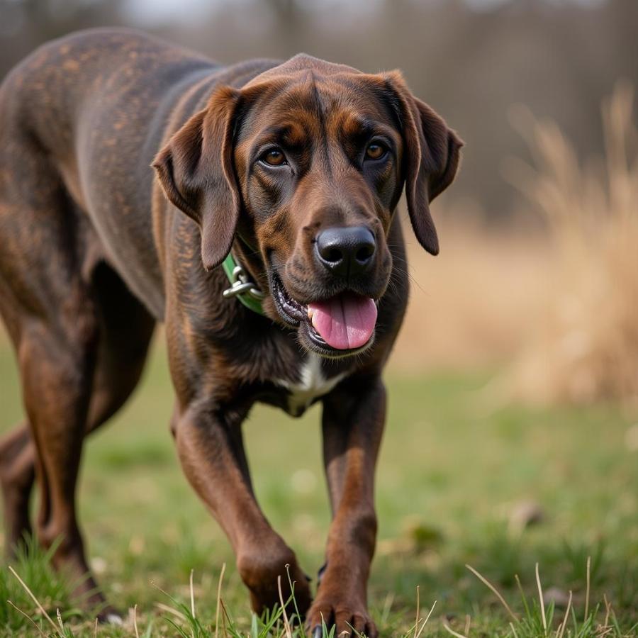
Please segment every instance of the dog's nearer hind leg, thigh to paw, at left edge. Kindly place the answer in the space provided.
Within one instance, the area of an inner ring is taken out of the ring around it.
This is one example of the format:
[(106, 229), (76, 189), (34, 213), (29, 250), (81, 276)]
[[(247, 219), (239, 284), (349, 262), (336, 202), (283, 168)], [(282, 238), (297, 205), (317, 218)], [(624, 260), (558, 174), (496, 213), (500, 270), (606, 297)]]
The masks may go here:
[[(2, 153), (11, 149), (9, 145)], [(13, 154), (21, 149), (13, 148)], [(3, 464), (11, 525), (7, 540), (11, 543), (28, 530), (33, 448), (40, 492), (35, 534), (45, 547), (59, 539), (53, 561), (77, 581), (87, 567), (75, 514), (75, 483), (99, 321), (89, 282), (81, 274), (79, 213), (47, 157), (32, 149), (18, 159), (13, 164), (0, 161), (9, 171), (0, 181), (0, 312), (16, 348), (31, 442), (23, 434), (5, 440), (3, 451), (21, 459)], [(21, 171), (12, 176), (14, 165)], [(90, 588), (95, 584), (87, 578), (79, 591)]]

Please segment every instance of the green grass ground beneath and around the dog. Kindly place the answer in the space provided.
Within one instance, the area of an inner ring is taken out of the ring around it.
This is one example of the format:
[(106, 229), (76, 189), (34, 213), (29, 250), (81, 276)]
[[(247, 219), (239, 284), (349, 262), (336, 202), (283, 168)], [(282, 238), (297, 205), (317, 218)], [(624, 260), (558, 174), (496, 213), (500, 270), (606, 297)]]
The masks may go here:
[[(564, 636), (638, 635), (638, 453), (625, 443), (634, 421), (614, 405), (490, 409), (481, 394), (487, 380), (487, 374), (388, 375), (388, 427), (376, 483), (379, 544), (370, 582), (381, 635), (414, 635), (419, 586), (422, 618), (437, 601), (422, 636), (448, 636), (444, 625), (464, 634), (468, 616), (473, 637), (543, 636), (537, 563), (544, 591), (573, 591)], [(21, 405), (6, 346), (0, 346), (0, 406), (0, 427), (8, 430), (21, 418)], [(228, 542), (181, 474), (168, 429), (171, 410), (165, 356), (156, 347), (138, 393), (86, 445), (79, 512), (99, 581), (118, 608), (137, 605), (140, 636), (177, 635), (172, 622), (186, 635), (204, 636), (215, 622), (226, 564), (228, 635), (265, 636), (266, 625), (250, 614)], [(259, 501), (310, 574), (323, 563), (329, 524), (318, 418), (317, 408), (293, 420), (260, 407), (246, 424)], [(514, 529), (512, 513), (525, 500), (540, 505), (542, 520)], [(591, 594), (583, 621), (588, 556)], [(514, 629), (496, 595), (466, 564), (520, 615)], [(55, 623), (60, 608), (65, 635), (94, 634), (91, 618), (79, 612), (42, 552), (32, 547), (12, 566)], [(191, 569), (195, 620), (189, 620)], [(612, 605), (608, 633), (597, 629), (605, 620), (603, 596)], [(5, 605), (8, 599), (52, 634), (3, 566), (0, 634), (38, 635)], [(545, 612), (555, 632), (564, 605), (547, 605)], [(285, 635), (280, 621), (274, 636)], [(133, 622), (100, 627), (98, 635), (134, 636)]]

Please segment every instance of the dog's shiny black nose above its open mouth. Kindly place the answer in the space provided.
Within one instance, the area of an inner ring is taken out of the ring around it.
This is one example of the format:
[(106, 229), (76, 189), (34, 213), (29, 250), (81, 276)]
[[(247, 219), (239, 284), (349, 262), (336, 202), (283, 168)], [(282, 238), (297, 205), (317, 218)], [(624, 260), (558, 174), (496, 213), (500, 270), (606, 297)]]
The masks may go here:
[(327, 228), (315, 242), (319, 261), (331, 272), (342, 276), (361, 274), (376, 251), (374, 235), (365, 226)]

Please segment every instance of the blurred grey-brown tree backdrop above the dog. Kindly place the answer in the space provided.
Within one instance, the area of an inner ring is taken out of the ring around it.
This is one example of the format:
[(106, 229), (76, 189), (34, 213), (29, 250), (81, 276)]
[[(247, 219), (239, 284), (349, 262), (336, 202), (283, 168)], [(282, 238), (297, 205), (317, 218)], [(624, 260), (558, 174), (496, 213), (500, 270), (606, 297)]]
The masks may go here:
[[(154, 30), (221, 62), (304, 51), (369, 72), (403, 69), (467, 142), (451, 196), (495, 220), (520, 201), (501, 178), (503, 159), (528, 152), (508, 121), (513, 105), (556, 120), (579, 154), (599, 154), (601, 99), (620, 77), (638, 86), (637, 0), (510, 0), (480, 11), (475, 0), (237, 0), (200, 5), (196, 20), (184, 0), (167, 1), (175, 19)], [(0, 77), (45, 40), (125, 23), (137, 2), (0, 0)]]

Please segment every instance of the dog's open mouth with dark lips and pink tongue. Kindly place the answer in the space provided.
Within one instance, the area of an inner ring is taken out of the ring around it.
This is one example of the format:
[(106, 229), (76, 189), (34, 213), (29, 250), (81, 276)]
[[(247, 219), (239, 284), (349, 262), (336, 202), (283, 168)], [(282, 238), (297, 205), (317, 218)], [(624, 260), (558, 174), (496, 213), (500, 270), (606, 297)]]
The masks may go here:
[(374, 337), (376, 302), (353, 292), (303, 304), (293, 299), (279, 276), (272, 277), (272, 296), (281, 318), (305, 328), (310, 342), (320, 351), (347, 354), (369, 345)]

